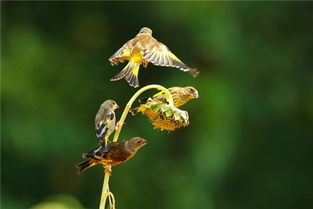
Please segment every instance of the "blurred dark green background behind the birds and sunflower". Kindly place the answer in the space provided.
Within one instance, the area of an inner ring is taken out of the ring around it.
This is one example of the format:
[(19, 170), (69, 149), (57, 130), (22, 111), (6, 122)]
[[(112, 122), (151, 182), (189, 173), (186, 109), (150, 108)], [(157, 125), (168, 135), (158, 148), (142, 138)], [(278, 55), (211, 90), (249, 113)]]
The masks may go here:
[[(131, 117), (149, 141), (113, 169), (117, 208), (313, 207), (313, 3), (2, 2), (2, 208), (97, 208), (94, 116), (135, 89), (108, 58), (143, 26), (201, 74), (149, 65), (141, 86), (194, 86), (190, 126)], [(148, 92), (151, 95), (154, 91)], [(118, 118), (122, 110), (117, 112)]]

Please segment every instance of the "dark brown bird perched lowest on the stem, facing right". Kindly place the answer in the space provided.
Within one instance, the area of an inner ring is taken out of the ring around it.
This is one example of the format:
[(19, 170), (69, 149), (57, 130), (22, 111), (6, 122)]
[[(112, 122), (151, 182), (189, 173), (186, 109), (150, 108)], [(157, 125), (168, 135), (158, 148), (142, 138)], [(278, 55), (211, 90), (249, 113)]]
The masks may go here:
[(98, 152), (99, 148), (84, 153), (86, 160), (75, 165), (78, 174), (82, 174), (88, 168), (102, 164), (104, 166), (114, 166), (121, 164), (137, 153), (137, 151), (147, 144), (147, 140), (141, 137), (133, 137), (128, 141), (112, 142), (108, 144), (108, 152)]

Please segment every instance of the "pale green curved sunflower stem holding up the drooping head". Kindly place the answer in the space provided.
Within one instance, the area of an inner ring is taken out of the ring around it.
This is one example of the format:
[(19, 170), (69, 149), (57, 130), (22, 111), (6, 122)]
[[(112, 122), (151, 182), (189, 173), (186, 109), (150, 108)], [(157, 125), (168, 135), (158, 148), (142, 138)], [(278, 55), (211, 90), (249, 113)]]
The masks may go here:
[[(119, 120), (119, 126), (117, 127), (117, 130), (115, 131), (114, 138), (112, 140), (113, 142), (117, 142), (118, 137), (120, 135), (120, 132), (122, 130), (124, 121), (126, 119), (126, 116), (129, 112), (131, 106), (133, 105), (133, 103), (136, 101), (136, 99), (139, 97), (140, 94), (142, 94), (144, 91), (147, 91), (149, 89), (157, 89), (157, 90), (163, 91), (169, 105), (174, 106), (173, 97), (172, 97), (171, 93), (165, 87), (163, 87), (161, 85), (157, 85), (157, 84), (151, 84), (151, 85), (142, 87), (127, 102), (126, 107), (124, 108), (124, 111), (122, 113), (121, 119)], [(101, 194), (99, 209), (105, 209), (106, 199), (110, 195), (109, 179), (110, 179), (110, 175), (111, 175), (111, 172), (110, 172), (111, 166), (104, 167), (104, 170), (105, 170), (105, 175), (104, 175), (104, 180), (103, 180), (102, 194)]]

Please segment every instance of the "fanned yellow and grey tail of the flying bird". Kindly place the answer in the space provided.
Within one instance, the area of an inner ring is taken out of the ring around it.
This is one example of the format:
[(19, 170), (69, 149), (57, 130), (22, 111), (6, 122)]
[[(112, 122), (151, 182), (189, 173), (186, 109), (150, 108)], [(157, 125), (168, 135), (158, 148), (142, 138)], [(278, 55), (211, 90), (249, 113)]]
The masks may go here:
[(128, 64), (124, 67), (124, 69), (111, 78), (111, 81), (117, 81), (122, 78), (125, 78), (129, 85), (131, 85), (134, 88), (139, 87), (139, 81), (138, 81), (138, 72), (139, 72), (139, 66), (140, 63), (137, 62), (128, 62)]

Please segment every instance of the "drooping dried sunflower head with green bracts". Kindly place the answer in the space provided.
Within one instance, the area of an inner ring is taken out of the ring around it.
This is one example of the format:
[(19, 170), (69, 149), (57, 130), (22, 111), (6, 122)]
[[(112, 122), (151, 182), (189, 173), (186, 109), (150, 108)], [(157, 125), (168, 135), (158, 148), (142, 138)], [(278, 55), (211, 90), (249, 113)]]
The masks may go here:
[(146, 115), (156, 129), (173, 131), (189, 125), (187, 111), (158, 99), (149, 98), (145, 104), (139, 106), (137, 112)]

